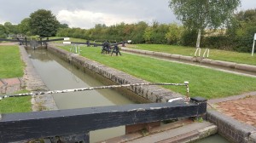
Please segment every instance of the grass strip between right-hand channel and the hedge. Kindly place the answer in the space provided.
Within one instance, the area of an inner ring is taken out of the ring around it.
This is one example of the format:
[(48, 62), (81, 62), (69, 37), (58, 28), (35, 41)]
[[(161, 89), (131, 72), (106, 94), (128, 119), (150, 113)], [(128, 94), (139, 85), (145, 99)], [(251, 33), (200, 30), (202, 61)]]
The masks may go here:
[[(128, 45), (129, 48), (133, 49), (144, 49), (150, 51), (164, 52), (170, 54), (182, 54), (182, 55), (195, 55), (195, 48), (174, 46), (165, 44), (136, 44)], [(201, 49), (201, 56), (205, 49)], [(250, 53), (238, 53), (218, 49), (210, 49), (209, 59), (212, 60), (224, 60), (242, 64), (256, 65), (256, 56), (251, 56)]]

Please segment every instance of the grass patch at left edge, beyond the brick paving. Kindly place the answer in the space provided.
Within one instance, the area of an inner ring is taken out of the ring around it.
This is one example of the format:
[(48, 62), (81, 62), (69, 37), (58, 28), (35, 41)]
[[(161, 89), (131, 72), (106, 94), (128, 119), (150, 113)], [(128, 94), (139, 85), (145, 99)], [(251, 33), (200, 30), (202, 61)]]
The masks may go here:
[(18, 46), (0, 46), (0, 78), (22, 77), (23, 67)]

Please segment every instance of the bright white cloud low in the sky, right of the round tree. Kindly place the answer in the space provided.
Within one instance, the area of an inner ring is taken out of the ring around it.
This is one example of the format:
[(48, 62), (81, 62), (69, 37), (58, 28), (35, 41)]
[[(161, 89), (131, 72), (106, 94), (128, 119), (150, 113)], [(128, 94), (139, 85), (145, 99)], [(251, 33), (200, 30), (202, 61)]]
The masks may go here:
[(108, 14), (101, 12), (92, 12), (86, 10), (60, 10), (56, 14), (57, 20), (61, 23), (67, 23), (70, 27), (91, 28), (96, 24), (105, 24), (112, 26), (125, 22), (127, 24), (136, 23), (138, 21), (150, 21), (152, 18), (137, 18), (136, 16), (122, 16), (119, 14)]

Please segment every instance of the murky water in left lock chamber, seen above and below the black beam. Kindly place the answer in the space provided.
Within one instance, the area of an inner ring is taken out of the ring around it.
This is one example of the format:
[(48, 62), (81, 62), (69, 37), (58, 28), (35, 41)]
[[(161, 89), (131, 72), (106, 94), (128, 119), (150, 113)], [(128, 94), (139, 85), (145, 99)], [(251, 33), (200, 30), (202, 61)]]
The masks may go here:
[[(102, 86), (100, 81), (79, 71), (66, 61), (46, 50), (27, 51), (38, 74), (50, 90), (78, 89)], [(65, 94), (53, 94), (59, 109), (72, 109), (89, 106), (113, 106), (133, 103), (113, 89), (90, 90)], [(90, 142), (108, 139), (125, 134), (125, 127), (101, 129), (90, 132)]]

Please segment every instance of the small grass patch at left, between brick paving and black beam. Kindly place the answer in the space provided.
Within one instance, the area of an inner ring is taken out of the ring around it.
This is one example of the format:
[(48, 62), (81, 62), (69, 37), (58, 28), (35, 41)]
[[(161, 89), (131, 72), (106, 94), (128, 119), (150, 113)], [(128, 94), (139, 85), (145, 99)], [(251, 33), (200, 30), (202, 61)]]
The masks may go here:
[[(22, 90), (15, 94), (27, 93)], [(11, 97), (0, 100), (0, 113), (32, 112), (31, 96)]]

